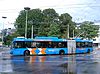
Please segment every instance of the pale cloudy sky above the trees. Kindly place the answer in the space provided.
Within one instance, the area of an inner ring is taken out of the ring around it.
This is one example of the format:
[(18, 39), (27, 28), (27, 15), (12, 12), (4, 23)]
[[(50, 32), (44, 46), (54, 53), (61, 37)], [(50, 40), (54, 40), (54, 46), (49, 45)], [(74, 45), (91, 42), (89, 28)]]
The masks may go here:
[[(13, 23), (24, 7), (53, 8), (59, 15), (69, 13), (77, 23), (100, 21), (100, 0), (0, 0), (0, 30), (14, 28)], [(7, 18), (3, 19), (3, 16)]]

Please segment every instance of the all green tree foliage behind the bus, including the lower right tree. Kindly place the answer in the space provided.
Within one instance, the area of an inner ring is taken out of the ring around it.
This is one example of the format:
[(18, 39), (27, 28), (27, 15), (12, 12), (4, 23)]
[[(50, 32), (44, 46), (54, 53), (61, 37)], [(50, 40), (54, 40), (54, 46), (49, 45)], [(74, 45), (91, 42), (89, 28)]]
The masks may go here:
[[(15, 27), (17, 34), (24, 36), (25, 34), (25, 18), (26, 12), (22, 10), (16, 19)], [(69, 36), (73, 37), (73, 31), (75, 36), (84, 32), (79, 36), (85, 38), (92, 38), (97, 36), (97, 27), (91, 25), (93, 22), (83, 22), (80, 26), (81, 29), (75, 29), (76, 23), (72, 21), (72, 17), (68, 13), (58, 15), (54, 9), (32, 9), (28, 11), (28, 29), (27, 36), (31, 37), (31, 28), (33, 25), (34, 36), (58, 36), (67, 38), (68, 25), (69, 25)]]

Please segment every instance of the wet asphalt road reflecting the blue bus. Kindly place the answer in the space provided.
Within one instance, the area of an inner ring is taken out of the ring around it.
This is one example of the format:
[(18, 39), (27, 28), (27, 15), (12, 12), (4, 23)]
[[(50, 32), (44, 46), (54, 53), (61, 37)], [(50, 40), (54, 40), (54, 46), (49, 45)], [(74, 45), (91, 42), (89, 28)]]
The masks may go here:
[(100, 50), (90, 54), (11, 56), (0, 51), (0, 74), (100, 74)]

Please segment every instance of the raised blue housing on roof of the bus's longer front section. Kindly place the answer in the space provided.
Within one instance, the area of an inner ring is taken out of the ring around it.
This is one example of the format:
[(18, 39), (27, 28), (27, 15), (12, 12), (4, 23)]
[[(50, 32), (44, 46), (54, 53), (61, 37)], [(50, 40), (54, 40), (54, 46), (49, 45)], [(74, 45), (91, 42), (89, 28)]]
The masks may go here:
[(59, 39), (58, 37), (35, 37), (34, 41), (67, 41), (67, 40)]

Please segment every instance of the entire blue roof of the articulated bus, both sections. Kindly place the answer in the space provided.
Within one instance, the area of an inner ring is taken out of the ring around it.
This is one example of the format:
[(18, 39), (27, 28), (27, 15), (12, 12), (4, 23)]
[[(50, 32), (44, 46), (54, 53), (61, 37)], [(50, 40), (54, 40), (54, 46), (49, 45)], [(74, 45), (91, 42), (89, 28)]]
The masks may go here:
[[(81, 39), (81, 38), (75, 38), (74, 39), (76, 42), (93, 42), (92, 40), (84, 40), (84, 39)], [(34, 39), (31, 39), (31, 38), (14, 38), (13, 39), (13, 42), (15, 41), (68, 41), (67, 39), (64, 39), (64, 38), (58, 38), (58, 37), (35, 37)]]

